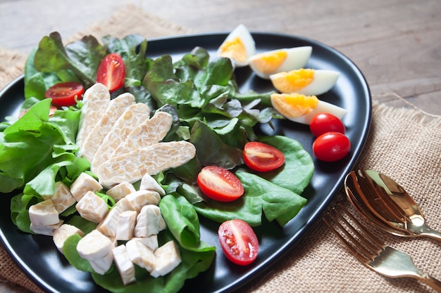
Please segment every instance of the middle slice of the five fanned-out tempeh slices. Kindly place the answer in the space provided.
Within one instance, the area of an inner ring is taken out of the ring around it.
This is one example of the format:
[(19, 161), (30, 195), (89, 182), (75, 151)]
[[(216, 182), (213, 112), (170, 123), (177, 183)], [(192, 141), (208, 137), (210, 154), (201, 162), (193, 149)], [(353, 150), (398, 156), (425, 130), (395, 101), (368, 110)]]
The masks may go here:
[(106, 162), (111, 157), (112, 153), (116, 150), (116, 148), (118, 148), (118, 145), (125, 141), (125, 138), (128, 137), (135, 126), (141, 124), (149, 118), (149, 106), (143, 103), (130, 105), (130, 107), (123, 112), (123, 115), (116, 120), (111, 131), (108, 132), (103, 143), (98, 148), (90, 166), (92, 172), (99, 176), (99, 165)]

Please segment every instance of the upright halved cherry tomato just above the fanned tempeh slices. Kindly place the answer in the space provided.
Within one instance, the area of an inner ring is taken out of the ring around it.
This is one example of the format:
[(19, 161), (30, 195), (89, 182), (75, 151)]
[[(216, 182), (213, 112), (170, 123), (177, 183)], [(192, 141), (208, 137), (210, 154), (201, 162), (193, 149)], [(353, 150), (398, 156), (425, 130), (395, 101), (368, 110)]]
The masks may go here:
[(109, 91), (115, 91), (124, 85), (125, 65), (118, 53), (110, 53), (99, 63), (97, 82), (107, 86)]

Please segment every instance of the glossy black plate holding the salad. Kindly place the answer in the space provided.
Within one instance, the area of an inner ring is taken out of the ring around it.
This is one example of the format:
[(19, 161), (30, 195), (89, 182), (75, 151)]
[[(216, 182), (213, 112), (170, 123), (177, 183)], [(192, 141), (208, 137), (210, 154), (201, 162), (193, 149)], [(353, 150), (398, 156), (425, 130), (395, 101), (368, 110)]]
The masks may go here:
[[(184, 37), (171, 37), (149, 40), (147, 53), (151, 57), (169, 54), (180, 58), (194, 46), (209, 50), (211, 56), (216, 56), (216, 49), (227, 34), (195, 34)], [(315, 69), (337, 70), (340, 77), (337, 84), (328, 93), (319, 98), (348, 110), (343, 122), (347, 127), (347, 136), (352, 143), (349, 155), (339, 162), (324, 163), (314, 159), (316, 171), (310, 185), (302, 194), (308, 199), (305, 207), (285, 228), (275, 223), (264, 222), (256, 228), (259, 237), (259, 256), (250, 266), (235, 266), (225, 259), (221, 248), (216, 251), (213, 265), (193, 280), (187, 280), (183, 292), (231, 292), (250, 282), (258, 275), (273, 266), (282, 256), (292, 249), (311, 225), (317, 221), (325, 207), (330, 204), (335, 194), (340, 190), (344, 176), (351, 171), (359, 157), (368, 135), (371, 123), (371, 95), (368, 84), (359, 69), (343, 56), (325, 44), (302, 37), (287, 34), (268, 34), (255, 32), (257, 51), (268, 51), (276, 48), (294, 46), (312, 46), (312, 56), (306, 65)], [(236, 70), (237, 82), (242, 92), (248, 89), (263, 92), (273, 90), (271, 82), (256, 77), (249, 67)], [(0, 93), (0, 117), (18, 115), (18, 108), (23, 101), (23, 77), (16, 79)], [(313, 136), (309, 126), (289, 121), (276, 121), (276, 129), (271, 131), (262, 127), (265, 134), (282, 134), (297, 139), (306, 151), (312, 154)], [(49, 292), (104, 292), (104, 289), (94, 285), (89, 273), (77, 271), (70, 266), (64, 257), (58, 253), (51, 237), (42, 235), (26, 235), (20, 233), (11, 223), (9, 216), (9, 198), (0, 197), (0, 236), (6, 249), (15, 261), (39, 285)], [(218, 223), (201, 219), (201, 237), (211, 245), (218, 246)]]

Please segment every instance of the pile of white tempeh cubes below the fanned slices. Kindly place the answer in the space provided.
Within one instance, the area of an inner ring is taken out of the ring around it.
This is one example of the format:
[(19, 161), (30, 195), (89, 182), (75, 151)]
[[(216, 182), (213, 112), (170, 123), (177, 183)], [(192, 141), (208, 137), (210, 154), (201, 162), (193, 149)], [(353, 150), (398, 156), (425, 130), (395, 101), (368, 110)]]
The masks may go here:
[[(96, 194), (101, 191), (97, 190), (101, 185), (95, 178), (86, 174), (79, 176), (74, 183), (70, 190), (65, 189), (66, 185), (56, 184), (62, 192), (56, 188), (53, 199), (72, 202), (67, 198), (74, 198), (74, 191), (79, 198), (75, 205), (77, 211), (83, 218), (98, 223), (91, 233), (84, 235), (77, 227), (63, 224), (58, 214), (65, 209), (66, 204), (58, 211), (49, 196), (29, 209), (30, 228), (35, 233), (52, 235), (61, 253), (68, 237), (74, 234), (82, 236), (77, 245), (78, 254), (87, 259), (94, 271), (101, 275), (114, 262), (124, 285), (135, 282), (134, 263), (145, 268), (154, 278), (170, 273), (180, 264), (180, 253), (175, 242), (170, 241), (159, 247), (157, 235), (166, 229), (166, 223), (158, 204), (165, 192), (149, 174), (142, 178), (139, 190), (135, 190), (128, 182), (108, 190), (107, 193), (116, 200), (116, 205), (111, 209)], [(85, 194), (81, 195), (80, 192)], [(118, 245), (118, 241), (127, 242)]]

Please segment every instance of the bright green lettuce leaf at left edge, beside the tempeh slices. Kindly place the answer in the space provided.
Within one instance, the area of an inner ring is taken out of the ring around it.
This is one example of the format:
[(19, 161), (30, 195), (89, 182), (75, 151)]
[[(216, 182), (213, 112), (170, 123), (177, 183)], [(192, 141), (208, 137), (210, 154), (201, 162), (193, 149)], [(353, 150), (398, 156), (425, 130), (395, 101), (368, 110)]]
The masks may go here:
[[(73, 142), (80, 113), (56, 111), (54, 117), (49, 118), (50, 103), (50, 99), (45, 99), (33, 105), (17, 122), (4, 129), (0, 136), (0, 175), (4, 179), (1, 193), (23, 188), (25, 183), (32, 181), (44, 170), (44, 173), (54, 178), (59, 167), (68, 168), (72, 164), (61, 162), (76, 161), (74, 154), (77, 148)], [(84, 169), (87, 164), (80, 160), (69, 168)], [(49, 184), (51, 190), (51, 183), (46, 181), (46, 184)], [(46, 191), (43, 194), (47, 194)]]

